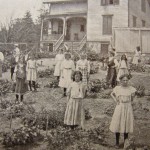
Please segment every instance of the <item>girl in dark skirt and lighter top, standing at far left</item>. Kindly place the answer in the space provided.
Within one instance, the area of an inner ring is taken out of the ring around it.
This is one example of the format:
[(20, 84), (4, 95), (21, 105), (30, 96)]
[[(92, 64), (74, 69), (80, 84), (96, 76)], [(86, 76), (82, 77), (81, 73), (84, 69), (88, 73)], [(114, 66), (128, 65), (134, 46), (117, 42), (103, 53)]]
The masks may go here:
[(23, 56), (20, 56), (18, 59), (18, 64), (16, 66), (16, 102), (19, 100), (23, 101), (23, 95), (27, 91), (27, 84), (26, 84), (26, 62)]

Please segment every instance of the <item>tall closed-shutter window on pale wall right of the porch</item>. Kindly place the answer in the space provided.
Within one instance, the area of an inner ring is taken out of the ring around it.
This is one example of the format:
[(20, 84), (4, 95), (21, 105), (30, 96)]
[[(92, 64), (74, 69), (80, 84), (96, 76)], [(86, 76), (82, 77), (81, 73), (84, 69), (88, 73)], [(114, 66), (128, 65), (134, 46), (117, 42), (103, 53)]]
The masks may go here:
[(104, 35), (112, 34), (112, 15), (103, 16), (103, 34)]

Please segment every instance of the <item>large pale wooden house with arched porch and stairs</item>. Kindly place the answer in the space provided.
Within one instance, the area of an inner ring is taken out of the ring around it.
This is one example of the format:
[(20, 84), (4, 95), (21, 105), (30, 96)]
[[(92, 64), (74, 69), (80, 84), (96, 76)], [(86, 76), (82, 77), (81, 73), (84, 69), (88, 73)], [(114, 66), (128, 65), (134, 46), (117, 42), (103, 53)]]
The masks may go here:
[[(108, 53), (115, 28), (150, 27), (150, 0), (44, 0), (41, 46)], [(122, 35), (123, 36), (123, 35)]]

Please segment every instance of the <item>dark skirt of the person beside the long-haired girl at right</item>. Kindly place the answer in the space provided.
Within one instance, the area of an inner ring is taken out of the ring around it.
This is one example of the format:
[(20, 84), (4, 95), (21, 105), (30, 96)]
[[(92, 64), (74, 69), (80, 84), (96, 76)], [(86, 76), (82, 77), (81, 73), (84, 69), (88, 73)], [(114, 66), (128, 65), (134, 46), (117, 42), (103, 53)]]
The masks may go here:
[(116, 68), (108, 68), (108, 72), (107, 72), (107, 77), (106, 80), (107, 82), (112, 86), (115, 87), (117, 85), (117, 72), (116, 72)]

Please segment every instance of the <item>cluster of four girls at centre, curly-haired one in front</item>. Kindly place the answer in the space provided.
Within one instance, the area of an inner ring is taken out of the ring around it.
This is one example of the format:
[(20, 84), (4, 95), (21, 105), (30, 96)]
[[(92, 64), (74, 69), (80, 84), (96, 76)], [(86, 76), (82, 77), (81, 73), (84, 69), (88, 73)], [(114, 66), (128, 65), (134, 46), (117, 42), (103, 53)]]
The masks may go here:
[(75, 128), (84, 125), (84, 107), (82, 99), (85, 97), (87, 82), (90, 74), (90, 64), (86, 54), (81, 54), (80, 60), (74, 63), (71, 53), (60, 49), (55, 58), (54, 76), (57, 77), (59, 86), (64, 89), (67, 96), (67, 107), (64, 124)]

